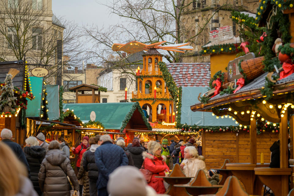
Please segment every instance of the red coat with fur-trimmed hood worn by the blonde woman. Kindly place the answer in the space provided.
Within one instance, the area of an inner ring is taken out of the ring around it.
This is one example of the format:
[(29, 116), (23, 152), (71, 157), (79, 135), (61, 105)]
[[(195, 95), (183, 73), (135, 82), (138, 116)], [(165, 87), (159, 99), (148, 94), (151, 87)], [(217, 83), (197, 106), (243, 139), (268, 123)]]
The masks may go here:
[(161, 156), (160, 158), (158, 158), (147, 152), (143, 152), (142, 155), (144, 159), (144, 168), (153, 173), (148, 185), (151, 186), (154, 190), (156, 190), (156, 192), (159, 194), (165, 193), (163, 178), (156, 178), (156, 176), (160, 175), (165, 176), (165, 170), (169, 171), (169, 167), (165, 163), (165, 156)]

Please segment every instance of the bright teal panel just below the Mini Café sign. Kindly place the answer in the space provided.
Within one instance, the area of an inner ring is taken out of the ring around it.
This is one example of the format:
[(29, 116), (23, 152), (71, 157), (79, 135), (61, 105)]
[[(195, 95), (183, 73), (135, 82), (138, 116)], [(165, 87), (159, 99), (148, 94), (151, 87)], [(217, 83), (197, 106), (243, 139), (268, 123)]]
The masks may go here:
[(30, 84), (32, 87), (32, 93), (35, 98), (28, 101), (27, 110), (25, 112), (26, 117), (40, 117), (40, 108), (42, 101), (42, 90), (43, 90), (43, 78), (30, 77)]

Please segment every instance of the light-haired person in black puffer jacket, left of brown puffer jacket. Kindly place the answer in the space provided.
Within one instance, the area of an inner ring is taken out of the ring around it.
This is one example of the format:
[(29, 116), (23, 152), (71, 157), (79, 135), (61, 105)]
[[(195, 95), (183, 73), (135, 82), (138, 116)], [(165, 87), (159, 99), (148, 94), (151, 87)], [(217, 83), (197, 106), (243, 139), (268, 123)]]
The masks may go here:
[(24, 152), (25, 158), (27, 159), (28, 165), (30, 167), (30, 179), (38, 195), (42, 195), (39, 186), (38, 174), (41, 167), (40, 165), (46, 155), (46, 149), (39, 146), (39, 142), (36, 137), (28, 137), (25, 140), (25, 143), (26, 146), (24, 148)]

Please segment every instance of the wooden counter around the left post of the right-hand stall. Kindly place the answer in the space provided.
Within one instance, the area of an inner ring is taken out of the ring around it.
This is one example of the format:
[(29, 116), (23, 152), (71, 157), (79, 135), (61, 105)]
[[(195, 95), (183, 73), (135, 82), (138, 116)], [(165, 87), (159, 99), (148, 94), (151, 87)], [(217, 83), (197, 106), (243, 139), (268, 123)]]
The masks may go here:
[(255, 176), (255, 167), (267, 167), (269, 163), (251, 164), (251, 163), (227, 163), (227, 169), (231, 170), (245, 186), (246, 192), (251, 195), (261, 193), (263, 183)]

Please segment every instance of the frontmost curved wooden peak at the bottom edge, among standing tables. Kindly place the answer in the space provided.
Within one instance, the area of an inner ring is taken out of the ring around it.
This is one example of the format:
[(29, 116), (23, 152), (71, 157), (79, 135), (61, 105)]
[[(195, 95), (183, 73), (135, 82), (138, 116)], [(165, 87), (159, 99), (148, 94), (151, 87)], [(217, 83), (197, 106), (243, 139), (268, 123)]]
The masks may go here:
[(236, 176), (229, 176), (224, 186), (215, 194), (216, 196), (249, 196), (241, 187)]

